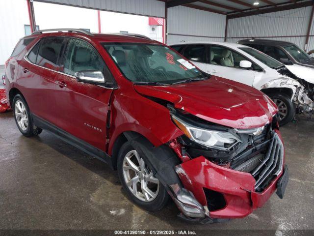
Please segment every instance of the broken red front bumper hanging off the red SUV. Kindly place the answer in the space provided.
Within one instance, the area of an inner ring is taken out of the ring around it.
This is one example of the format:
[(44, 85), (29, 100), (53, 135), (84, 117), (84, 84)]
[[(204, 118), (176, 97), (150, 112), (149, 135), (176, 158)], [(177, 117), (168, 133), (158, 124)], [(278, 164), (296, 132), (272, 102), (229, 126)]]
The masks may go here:
[[(252, 174), (216, 165), (204, 156), (183, 162), (175, 169), (184, 188), (190, 191), (200, 206), (203, 206), (204, 218), (211, 219), (211, 223), (215, 222), (214, 219), (242, 218), (252, 213), (254, 209), (262, 207), (276, 191), (277, 182), (284, 173), (282, 168), (267, 187), (258, 192), (255, 190), (257, 181)], [(223, 207), (210, 210), (207, 191), (220, 194), (224, 200)], [(179, 208), (187, 216), (186, 219), (193, 220), (188, 212), (184, 212), (183, 207)]]

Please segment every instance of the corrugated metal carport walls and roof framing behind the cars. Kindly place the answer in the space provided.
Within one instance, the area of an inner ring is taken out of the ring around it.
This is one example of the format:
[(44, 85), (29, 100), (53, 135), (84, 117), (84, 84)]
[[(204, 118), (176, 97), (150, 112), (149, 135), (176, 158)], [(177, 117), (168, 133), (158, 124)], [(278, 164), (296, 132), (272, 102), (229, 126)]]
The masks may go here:
[[(305, 49), (314, 48), (313, 0), (258, 0), (258, 5), (254, 5), (253, 0), (27, 1), (32, 30), (35, 26), (32, 2), (40, 1), (164, 18), (167, 43), (178, 40), (236, 41), (255, 37), (290, 39)], [(286, 25), (281, 24), (283, 19)], [(290, 30), (285, 29), (288, 26)], [(276, 27), (281, 27), (283, 33), (279, 34)]]

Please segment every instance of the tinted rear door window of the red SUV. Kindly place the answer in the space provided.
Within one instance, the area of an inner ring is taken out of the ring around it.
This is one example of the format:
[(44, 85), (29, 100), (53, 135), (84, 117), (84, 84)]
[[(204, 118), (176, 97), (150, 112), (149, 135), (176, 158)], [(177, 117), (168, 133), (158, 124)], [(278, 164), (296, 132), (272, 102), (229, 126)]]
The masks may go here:
[(44, 38), (41, 40), (36, 64), (53, 69), (59, 70), (58, 58), (63, 46), (64, 38)]

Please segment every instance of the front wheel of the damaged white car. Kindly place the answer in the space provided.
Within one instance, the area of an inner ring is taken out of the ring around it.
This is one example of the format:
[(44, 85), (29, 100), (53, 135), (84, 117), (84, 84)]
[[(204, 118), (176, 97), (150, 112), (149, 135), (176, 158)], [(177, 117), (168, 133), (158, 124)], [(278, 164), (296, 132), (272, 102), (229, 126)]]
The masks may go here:
[(285, 93), (271, 93), (268, 96), (277, 105), (279, 110), (279, 125), (283, 126), (291, 122), (295, 116), (295, 105), (291, 101), (291, 98)]

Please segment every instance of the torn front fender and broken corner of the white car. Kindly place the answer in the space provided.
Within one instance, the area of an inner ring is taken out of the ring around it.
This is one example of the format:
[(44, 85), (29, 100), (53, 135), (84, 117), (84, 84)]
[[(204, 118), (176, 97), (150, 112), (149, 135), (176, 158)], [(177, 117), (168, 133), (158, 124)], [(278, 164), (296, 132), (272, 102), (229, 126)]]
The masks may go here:
[(281, 89), (287, 88), (292, 90), (291, 101), (296, 106), (298, 113), (308, 114), (312, 117), (314, 113), (313, 100), (307, 94), (307, 90), (298, 81), (287, 76), (273, 79), (262, 85), (262, 89)]

